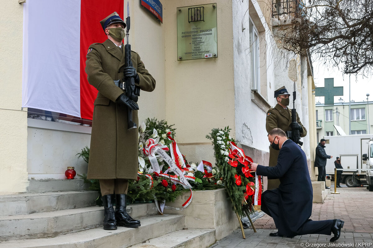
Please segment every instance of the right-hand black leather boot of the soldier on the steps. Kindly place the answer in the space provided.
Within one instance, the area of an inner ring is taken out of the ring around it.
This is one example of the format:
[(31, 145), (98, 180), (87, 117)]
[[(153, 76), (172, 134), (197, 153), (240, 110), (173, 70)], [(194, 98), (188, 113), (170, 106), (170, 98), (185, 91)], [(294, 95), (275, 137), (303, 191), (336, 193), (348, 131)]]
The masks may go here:
[(116, 194), (115, 218), (118, 226), (139, 227), (140, 220), (132, 219), (126, 211), (126, 194)]

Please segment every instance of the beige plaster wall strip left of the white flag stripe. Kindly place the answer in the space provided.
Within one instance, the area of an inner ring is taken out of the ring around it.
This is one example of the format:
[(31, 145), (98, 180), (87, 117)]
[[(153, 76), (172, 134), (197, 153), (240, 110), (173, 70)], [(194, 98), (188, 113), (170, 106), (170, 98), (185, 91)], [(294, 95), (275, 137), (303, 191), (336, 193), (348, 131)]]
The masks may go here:
[(21, 110), (23, 6), (0, 8), (0, 195), (27, 187), (27, 110)]

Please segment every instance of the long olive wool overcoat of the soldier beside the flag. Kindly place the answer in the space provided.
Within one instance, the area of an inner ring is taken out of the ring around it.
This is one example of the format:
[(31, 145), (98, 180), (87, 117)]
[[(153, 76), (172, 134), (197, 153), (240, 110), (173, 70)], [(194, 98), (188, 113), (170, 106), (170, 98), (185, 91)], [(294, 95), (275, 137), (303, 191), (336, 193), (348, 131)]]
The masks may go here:
[[(122, 44), (124, 49), (124, 45)], [(136, 52), (132, 64), (140, 77), (141, 90), (153, 91), (156, 81), (145, 69)], [(88, 82), (98, 90), (94, 101), (88, 175), (90, 179), (136, 179), (138, 171), (138, 129), (127, 130), (127, 107), (116, 103), (125, 93), (114, 80), (123, 78), (125, 54), (112, 41), (90, 45), (85, 72)], [(141, 96), (140, 96), (141, 97)], [(139, 106), (141, 109), (141, 106)], [(132, 111), (137, 123), (137, 110)]]

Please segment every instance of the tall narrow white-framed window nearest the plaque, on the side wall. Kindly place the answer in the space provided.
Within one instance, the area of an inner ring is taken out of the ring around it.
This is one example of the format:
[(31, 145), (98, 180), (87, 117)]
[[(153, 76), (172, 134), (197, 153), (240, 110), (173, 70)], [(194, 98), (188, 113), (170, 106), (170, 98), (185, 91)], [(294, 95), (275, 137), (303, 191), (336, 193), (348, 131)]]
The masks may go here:
[(259, 64), (259, 39), (258, 29), (256, 28), (253, 19), (249, 17), (249, 43), (250, 43), (250, 61), (251, 61), (251, 87), (253, 90), (257, 90), (260, 93), (260, 64)]

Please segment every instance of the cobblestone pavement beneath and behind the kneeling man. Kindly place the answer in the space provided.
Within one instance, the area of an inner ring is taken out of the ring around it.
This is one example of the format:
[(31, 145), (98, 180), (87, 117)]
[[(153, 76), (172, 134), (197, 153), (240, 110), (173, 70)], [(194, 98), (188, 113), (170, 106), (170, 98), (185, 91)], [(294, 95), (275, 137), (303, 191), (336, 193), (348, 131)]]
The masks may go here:
[[(334, 191), (332, 184), (332, 190)], [(217, 241), (214, 248), (244, 247), (371, 247), (373, 248), (373, 192), (366, 187), (337, 188), (340, 194), (328, 194), (324, 203), (313, 203), (311, 219), (342, 219), (345, 221), (341, 237), (330, 243), (332, 236), (310, 234), (294, 238), (270, 237), (276, 232), (275, 223), (268, 215), (255, 220), (257, 229), (245, 229), (246, 239), (242, 238), (241, 229)]]

